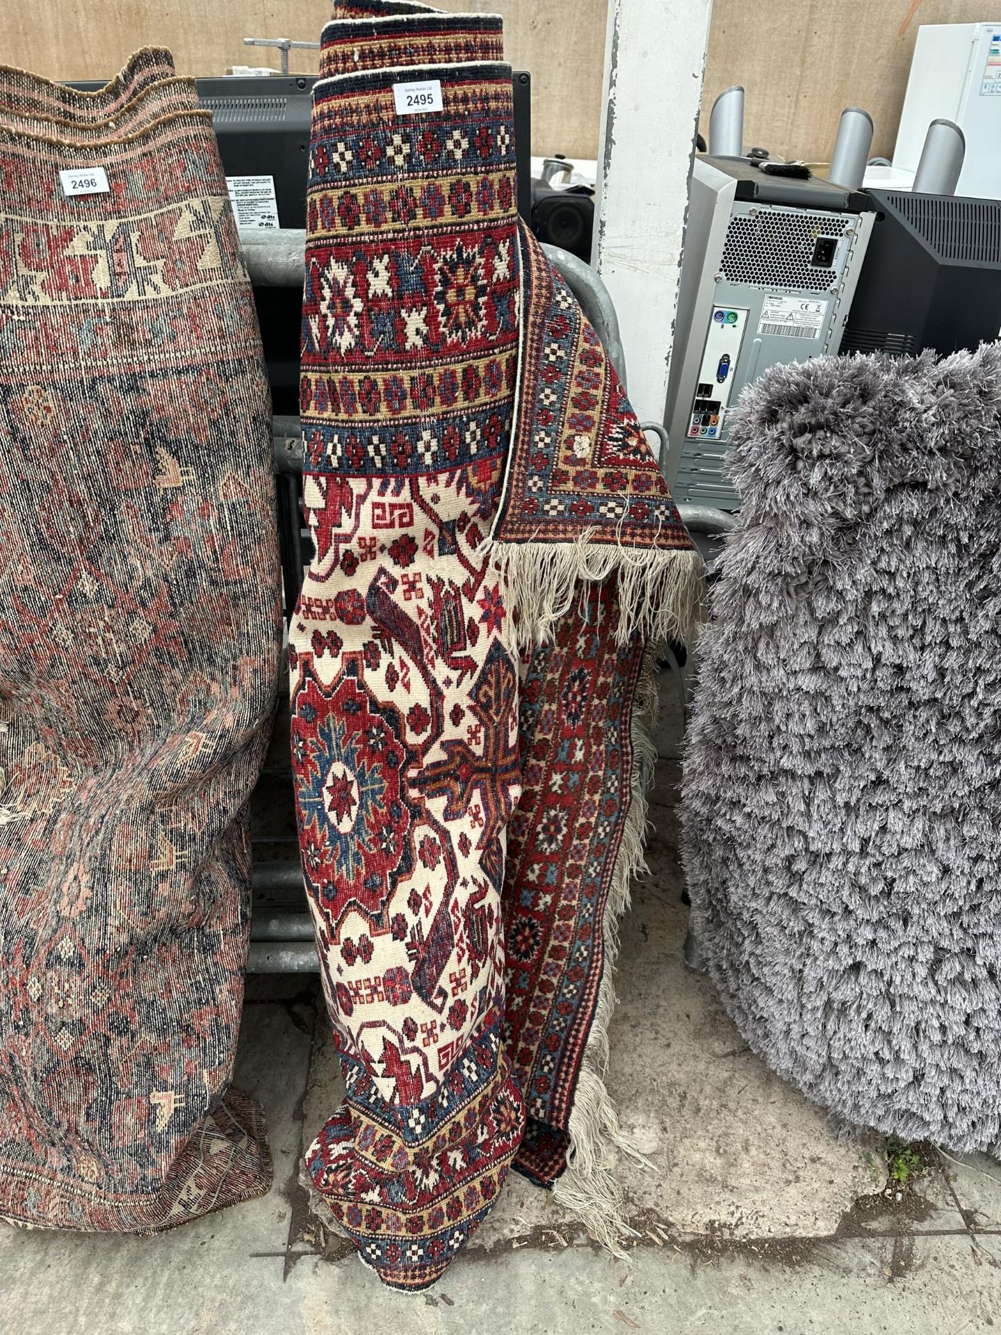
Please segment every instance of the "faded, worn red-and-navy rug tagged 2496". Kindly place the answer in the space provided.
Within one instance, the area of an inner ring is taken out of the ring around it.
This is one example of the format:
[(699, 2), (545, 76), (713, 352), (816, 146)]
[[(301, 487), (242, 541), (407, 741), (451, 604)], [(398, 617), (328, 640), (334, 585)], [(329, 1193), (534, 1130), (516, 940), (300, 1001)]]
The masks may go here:
[(29, 1226), (149, 1232), (271, 1179), (230, 1087), (270, 403), (211, 116), (171, 75), (0, 73), (0, 1215)]

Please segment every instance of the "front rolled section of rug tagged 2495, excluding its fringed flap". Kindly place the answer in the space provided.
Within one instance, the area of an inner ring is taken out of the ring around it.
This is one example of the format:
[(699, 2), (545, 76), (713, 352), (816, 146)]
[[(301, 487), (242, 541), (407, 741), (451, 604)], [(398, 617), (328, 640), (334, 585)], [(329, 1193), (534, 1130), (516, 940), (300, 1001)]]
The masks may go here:
[(506, 124), (513, 93), (502, 65), (434, 73), (443, 111), (420, 128), (436, 159), (452, 146), (447, 175), (396, 116), (394, 71), (314, 93), (316, 555), (291, 627), (303, 862), (347, 1083), (307, 1168), (403, 1288), (432, 1283), (483, 1218), (523, 1125), (500, 1043), (517, 666), (480, 551), (514, 400), (514, 174), (495, 147), (486, 172), (466, 154), (470, 116)]

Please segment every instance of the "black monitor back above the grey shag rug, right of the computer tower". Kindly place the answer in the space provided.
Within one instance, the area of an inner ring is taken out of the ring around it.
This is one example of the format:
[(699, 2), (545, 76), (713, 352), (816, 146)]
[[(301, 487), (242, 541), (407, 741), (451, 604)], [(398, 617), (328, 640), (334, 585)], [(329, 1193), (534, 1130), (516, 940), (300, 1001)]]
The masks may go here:
[(869, 190), (873, 234), (842, 352), (973, 351), (1001, 330), (1001, 202)]

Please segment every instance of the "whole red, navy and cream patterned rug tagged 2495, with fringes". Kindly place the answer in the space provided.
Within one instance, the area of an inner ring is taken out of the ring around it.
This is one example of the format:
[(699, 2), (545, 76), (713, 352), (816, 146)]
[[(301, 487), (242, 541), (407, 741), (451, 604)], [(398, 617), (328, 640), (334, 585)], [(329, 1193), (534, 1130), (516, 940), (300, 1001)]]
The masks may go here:
[[(500, 55), (496, 17), (355, 4), (314, 93), (292, 750), (347, 1100), (307, 1181), (410, 1290), (513, 1163), (562, 1173), (598, 1235), (625, 1226), (602, 1075), (635, 706), (701, 589), (594, 331), (519, 230)], [(411, 81), (440, 104), (400, 113)]]

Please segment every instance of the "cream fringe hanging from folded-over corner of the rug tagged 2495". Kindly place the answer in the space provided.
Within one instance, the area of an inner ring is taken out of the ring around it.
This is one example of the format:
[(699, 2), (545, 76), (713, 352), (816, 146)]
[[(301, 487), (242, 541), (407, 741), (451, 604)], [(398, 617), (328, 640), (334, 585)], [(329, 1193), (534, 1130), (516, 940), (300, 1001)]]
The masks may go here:
[(593, 530), (574, 542), (492, 542), (488, 547), (505, 581), (507, 643), (515, 653), (553, 639), (557, 622), (574, 597), (586, 597), (579, 582), (618, 579), (619, 621), (615, 642), (633, 635), (653, 643), (685, 641), (702, 619), (705, 562), (694, 550), (658, 550), (593, 541)]

